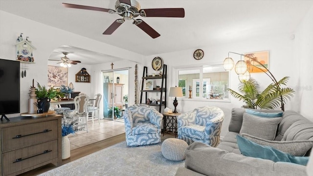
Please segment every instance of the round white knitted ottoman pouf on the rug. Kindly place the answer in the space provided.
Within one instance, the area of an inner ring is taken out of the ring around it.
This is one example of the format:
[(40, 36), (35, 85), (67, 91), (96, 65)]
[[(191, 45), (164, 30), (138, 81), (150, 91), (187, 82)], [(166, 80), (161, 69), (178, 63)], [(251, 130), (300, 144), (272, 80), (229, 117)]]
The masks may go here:
[(185, 159), (185, 150), (188, 144), (176, 138), (165, 139), (161, 146), (163, 156), (172, 161), (181, 161)]

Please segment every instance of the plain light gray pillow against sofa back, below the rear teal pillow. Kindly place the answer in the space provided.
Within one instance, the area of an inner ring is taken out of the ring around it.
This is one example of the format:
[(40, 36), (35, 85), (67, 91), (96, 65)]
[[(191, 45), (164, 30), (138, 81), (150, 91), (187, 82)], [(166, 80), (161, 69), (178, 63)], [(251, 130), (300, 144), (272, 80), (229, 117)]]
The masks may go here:
[(274, 140), (282, 117), (265, 118), (244, 112), (240, 134), (246, 133), (266, 140)]

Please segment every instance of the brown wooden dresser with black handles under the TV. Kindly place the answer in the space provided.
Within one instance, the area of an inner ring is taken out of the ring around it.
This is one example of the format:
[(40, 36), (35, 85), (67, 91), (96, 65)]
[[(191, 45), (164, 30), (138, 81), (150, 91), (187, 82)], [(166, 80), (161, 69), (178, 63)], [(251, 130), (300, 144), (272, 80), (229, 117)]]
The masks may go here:
[(0, 122), (0, 176), (16, 176), (49, 163), (61, 165), (62, 117), (14, 117)]

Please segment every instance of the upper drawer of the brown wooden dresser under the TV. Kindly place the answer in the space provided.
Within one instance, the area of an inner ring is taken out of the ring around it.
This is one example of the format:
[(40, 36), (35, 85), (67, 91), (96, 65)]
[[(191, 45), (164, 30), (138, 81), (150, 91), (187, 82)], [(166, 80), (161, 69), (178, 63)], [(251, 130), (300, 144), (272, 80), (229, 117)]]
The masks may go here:
[(2, 152), (58, 138), (58, 121), (2, 128)]

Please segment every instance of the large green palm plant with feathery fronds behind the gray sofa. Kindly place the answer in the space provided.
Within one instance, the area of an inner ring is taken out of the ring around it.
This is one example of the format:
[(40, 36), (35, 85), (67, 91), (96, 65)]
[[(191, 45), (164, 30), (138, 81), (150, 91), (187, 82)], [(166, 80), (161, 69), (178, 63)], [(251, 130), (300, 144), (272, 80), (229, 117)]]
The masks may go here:
[(238, 90), (242, 94), (232, 89), (227, 90), (230, 95), (246, 103), (242, 106), (244, 108), (275, 109), (281, 104), (281, 98), (285, 103), (286, 101), (291, 100), (291, 97), (293, 97), (293, 94), (295, 93), (294, 90), (289, 87), (281, 87), (281, 85), (287, 84), (288, 79), (289, 76), (285, 76), (277, 81), (277, 84), (271, 83), (263, 92), (261, 92), (258, 82), (250, 77), (250, 79), (243, 80), (239, 84)]

